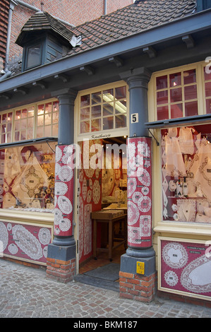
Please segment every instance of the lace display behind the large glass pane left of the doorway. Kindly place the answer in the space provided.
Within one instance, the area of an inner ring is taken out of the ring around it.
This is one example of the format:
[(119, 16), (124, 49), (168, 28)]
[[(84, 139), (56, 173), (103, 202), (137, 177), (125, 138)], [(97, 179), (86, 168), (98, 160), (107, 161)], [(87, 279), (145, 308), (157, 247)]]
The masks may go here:
[(0, 207), (54, 211), (56, 142), (0, 150)]

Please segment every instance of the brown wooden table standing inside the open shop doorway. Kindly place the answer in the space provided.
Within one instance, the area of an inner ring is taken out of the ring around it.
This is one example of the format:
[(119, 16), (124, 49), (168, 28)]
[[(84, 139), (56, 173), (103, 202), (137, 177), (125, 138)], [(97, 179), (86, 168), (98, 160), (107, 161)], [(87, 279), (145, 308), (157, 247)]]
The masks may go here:
[[(121, 244), (125, 244), (127, 240), (127, 214), (123, 213), (114, 213), (109, 211), (95, 211), (92, 212), (91, 218), (94, 223), (94, 239), (93, 239), (93, 255), (94, 258), (97, 259), (97, 249), (100, 251), (108, 251), (109, 252), (109, 261), (112, 261), (112, 251), (117, 247), (121, 246)], [(114, 223), (117, 221), (123, 221), (124, 223), (124, 236), (122, 239), (116, 239), (118, 244), (114, 245)], [(107, 223), (109, 225), (109, 248), (97, 248), (97, 223)]]

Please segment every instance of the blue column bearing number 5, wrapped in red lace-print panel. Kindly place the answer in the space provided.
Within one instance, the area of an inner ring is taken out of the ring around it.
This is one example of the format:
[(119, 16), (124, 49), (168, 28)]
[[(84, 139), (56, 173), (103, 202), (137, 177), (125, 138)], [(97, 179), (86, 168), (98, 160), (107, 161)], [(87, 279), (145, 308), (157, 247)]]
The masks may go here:
[[(130, 112), (127, 140), (128, 249), (126, 254), (121, 256), (120, 271), (130, 273), (134, 278), (137, 278), (135, 275), (141, 278), (153, 275), (152, 288), (155, 289), (155, 250), (152, 247), (152, 138), (145, 128), (145, 122), (148, 121), (147, 86), (150, 77), (150, 71), (143, 67), (121, 73), (121, 78), (128, 83)], [(138, 266), (143, 270), (138, 270)], [(150, 300), (151, 295), (150, 293)]]

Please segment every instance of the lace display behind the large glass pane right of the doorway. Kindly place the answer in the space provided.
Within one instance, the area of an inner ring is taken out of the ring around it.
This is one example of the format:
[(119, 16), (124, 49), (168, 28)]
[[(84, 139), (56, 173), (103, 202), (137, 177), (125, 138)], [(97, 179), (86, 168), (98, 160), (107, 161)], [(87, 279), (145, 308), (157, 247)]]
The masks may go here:
[(211, 223), (210, 124), (161, 134), (163, 220)]

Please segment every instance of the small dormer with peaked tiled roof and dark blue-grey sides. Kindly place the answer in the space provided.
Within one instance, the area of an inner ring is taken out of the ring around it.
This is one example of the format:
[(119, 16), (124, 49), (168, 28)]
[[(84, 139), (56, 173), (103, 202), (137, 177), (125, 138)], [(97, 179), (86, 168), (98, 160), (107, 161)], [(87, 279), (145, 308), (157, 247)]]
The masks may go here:
[(16, 40), (16, 44), (23, 47), (22, 71), (60, 59), (69, 49), (80, 45), (78, 38), (49, 13), (35, 13)]

